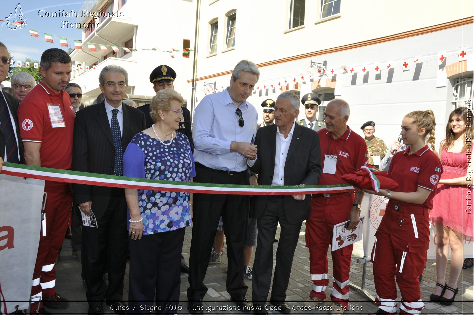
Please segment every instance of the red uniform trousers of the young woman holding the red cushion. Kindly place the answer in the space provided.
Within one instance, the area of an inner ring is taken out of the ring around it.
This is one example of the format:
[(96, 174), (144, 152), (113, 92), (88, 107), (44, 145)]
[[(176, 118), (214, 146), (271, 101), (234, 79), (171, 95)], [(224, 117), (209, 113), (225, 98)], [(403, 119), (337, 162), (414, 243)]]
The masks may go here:
[[(396, 313), (397, 287), (401, 292), (400, 313), (420, 314), (419, 275), (423, 273), (429, 243), (429, 211), (421, 206), (389, 203), (375, 236), (371, 261), (379, 308)], [(416, 237), (418, 236), (418, 237)]]

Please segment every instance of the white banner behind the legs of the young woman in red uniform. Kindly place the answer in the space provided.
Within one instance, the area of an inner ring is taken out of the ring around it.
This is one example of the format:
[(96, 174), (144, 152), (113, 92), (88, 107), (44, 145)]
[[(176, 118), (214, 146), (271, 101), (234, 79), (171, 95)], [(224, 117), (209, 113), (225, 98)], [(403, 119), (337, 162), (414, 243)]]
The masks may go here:
[[(366, 220), (363, 228), (364, 240), (364, 257), (370, 259), (372, 248), (374, 247), (375, 232), (377, 231), (380, 222), (382, 221), (385, 208), (387, 207), (388, 199), (382, 196), (365, 194), (361, 204), (361, 215), (365, 215)], [(464, 256), (466, 258), (473, 257), (474, 241), (471, 237), (467, 237), (464, 241)], [(431, 223), (429, 224), (429, 248), (428, 259), (436, 258), (436, 229)]]

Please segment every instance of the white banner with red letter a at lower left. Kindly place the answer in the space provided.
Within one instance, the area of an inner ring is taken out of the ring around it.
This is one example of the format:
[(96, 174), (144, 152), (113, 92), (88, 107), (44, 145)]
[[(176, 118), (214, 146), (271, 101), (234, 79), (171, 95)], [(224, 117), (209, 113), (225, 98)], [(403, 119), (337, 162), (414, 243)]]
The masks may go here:
[(27, 309), (45, 181), (0, 174), (0, 313)]

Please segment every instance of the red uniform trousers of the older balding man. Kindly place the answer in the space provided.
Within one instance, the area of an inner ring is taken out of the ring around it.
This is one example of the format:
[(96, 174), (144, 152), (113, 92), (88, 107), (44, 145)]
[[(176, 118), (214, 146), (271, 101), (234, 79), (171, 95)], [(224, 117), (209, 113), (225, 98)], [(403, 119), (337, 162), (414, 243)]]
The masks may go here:
[[(311, 213), (306, 220), (306, 247), (310, 249), (310, 272), (313, 288), (310, 296), (326, 299), (328, 277), (328, 248), (335, 224), (347, 220), (354, 204), (354, 193), (313, 195)], [(349, 301), (349, 271), (353, 245), (331, 252), (333, 288), (331, 300), (347, 307)]]

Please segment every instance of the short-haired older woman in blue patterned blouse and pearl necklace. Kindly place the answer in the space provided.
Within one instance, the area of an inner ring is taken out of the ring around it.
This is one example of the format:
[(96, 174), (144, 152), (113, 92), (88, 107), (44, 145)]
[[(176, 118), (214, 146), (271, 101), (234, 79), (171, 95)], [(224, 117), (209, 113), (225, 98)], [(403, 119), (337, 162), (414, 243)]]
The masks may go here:
[[(192, 182), (188, 138), (175, 130), (183, 119), (181, 94), (158, 91), (150, 103), (151, 128), (137, 133), (123, 156), (124, 176)], [(128, 204), (130, 283), (134, 312), (178, 313), (184, 228), (191, 226), (192, 193), (125, 189)], [(155, 301), (155, 308), (153, 306)]]

